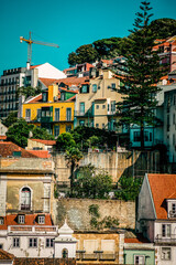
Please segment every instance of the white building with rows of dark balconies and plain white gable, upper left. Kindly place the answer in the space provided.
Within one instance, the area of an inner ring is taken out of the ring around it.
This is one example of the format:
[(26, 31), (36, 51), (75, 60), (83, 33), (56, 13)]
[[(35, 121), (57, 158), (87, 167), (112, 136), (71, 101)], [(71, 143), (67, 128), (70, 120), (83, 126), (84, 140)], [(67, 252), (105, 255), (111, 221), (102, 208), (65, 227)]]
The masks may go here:
[(19, 109), (19, 97), (16, 94), (19, 87), (36, 87), (41, 85), (42, 88), (45, 88), (40, 78), (51, 78), (54, 81), (65, 77), (66, 75), (62, 71), (50, 63), (34, 66), (26, 63), (26, 67), (3, 71), (0, 82), (0, 118), (4, 118), (10, 112)]

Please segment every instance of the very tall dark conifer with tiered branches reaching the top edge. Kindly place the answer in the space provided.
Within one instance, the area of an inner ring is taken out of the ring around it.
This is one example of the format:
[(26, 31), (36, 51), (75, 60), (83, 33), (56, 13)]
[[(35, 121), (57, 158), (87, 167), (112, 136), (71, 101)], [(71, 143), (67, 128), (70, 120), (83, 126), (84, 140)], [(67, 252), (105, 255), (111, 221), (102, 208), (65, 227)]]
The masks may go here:
[(134, 29), (128, 38), (128, 74), (121, 78), (123, 85), (119, 93), (123, 95), (123, 102), (118, 103), (118, 110), (121, 113), (121, 124), (140, 126), (141, 149), (144, 149), (144, 125), (154, 124), (154, 109), (157, 105), (155, 95), (161, 89), (156, 84), (164, 70), (160, 65), (158, 55), (153, 51), (155, 36), (147, 26), (152, 17), (148, 13), (152, 9), (150, 2), (143, 1), (140, 9)]

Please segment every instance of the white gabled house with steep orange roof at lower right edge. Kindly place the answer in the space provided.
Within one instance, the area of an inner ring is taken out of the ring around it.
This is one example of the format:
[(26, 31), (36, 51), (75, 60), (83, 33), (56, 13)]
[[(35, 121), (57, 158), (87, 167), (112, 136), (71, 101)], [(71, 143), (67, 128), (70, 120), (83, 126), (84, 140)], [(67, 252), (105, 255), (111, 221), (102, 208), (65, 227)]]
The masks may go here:
[(145, 174), (136, 230), (155, 245), (157, 265), (176, 263), (176, 174)]

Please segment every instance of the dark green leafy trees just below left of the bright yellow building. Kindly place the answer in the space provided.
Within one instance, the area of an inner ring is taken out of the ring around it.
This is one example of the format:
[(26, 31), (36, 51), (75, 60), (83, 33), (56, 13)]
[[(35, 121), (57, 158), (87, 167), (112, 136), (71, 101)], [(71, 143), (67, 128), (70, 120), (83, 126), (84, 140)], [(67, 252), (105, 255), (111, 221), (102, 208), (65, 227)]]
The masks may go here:
[(45, 129), (30, 125), (25, 119), (18, 119), (16, 123), (11, 125), (7, 132), (7, 140), (13, 141), (20, 147), (25, 148), (28, 146), (28, 138), (32, 132), (34, 138), (53, 140), (54, 137), (50, 135)]

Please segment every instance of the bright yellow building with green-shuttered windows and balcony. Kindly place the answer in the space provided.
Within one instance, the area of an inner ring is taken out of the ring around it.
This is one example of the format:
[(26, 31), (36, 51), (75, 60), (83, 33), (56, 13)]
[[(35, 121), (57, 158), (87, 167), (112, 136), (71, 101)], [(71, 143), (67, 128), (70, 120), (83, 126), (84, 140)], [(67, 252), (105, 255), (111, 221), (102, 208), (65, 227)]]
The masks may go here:
[(50, 85), (42, 94), (24, 102), (22, 117), (57, 137), (74, 128), (76, 94), (75, 91)]

